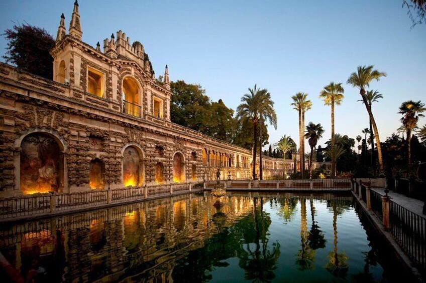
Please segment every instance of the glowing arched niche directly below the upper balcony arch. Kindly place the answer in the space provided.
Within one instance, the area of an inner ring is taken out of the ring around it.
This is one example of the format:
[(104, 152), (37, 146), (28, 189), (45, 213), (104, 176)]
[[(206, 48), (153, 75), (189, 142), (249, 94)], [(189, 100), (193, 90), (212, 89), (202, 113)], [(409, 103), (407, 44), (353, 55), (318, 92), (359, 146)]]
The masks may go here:
[(123, 184), (128, 186), (140, 186), (144, 182), (144, 164), (141, 154), (134, 146), (129, 146), (123, 156)]

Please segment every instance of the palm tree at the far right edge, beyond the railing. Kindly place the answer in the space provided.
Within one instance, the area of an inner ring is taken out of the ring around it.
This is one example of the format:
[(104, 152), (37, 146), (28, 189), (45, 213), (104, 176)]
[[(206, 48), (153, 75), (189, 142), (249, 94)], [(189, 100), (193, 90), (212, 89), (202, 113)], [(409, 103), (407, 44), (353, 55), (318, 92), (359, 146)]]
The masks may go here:
[(401, 122), (407, 131), (407, 150), (408, 150), (408, 172), (411, 171), (411, 132), (417, 127), (417, 122), (420, 117), (424, 117), (423, 113), (426, 111), (424, 103), (421, 101), (408, 100), (402, 102), (399, 107), (399, 114), (402, 114)]

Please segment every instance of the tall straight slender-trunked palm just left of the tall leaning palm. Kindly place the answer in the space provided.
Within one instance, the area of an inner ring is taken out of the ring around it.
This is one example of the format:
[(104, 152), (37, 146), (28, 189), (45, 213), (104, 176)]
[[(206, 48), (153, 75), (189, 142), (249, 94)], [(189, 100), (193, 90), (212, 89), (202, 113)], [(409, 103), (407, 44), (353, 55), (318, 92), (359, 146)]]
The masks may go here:
[[(342, 104), (343, 93), (345, 90), (342, 87), (342, 83), (335, 84), (331, 82), (328, 86), (325, 86), (324, 89), (319, 94), (319, 98), (324, 100), (325, 105), (330, 105), (332, 107), (332, 148), (334, 148), (334, 106)], [(332, 157), (332, 176), (336, 176), (336, 160)]]

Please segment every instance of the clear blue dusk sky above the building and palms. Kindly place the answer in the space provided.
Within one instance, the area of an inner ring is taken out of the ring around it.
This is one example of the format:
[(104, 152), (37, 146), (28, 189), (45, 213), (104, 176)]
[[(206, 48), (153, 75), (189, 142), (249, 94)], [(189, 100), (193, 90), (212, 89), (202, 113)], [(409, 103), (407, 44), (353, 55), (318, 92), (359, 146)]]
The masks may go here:
[[(0, 30), (13, 22), (45, 28), (53, 36), (64, 13), (68, 28), (73, 0), (3, 0)], [(373, 105), (381, 140), (400, 126), (401, 102), (426, 102), (426, 24), (411, 29), (401, 0), (341, 1), (137, 1), (80, 0), (83, 41), (95, 46), (122, 30), (140, 41), (156, 75), (168, 64), (171, 80), (200, 84), (214, 101), (235, 110), (247, 88), (267, 88), (275, 101), (278, 129), (298, 139), (291, 96), (306, 92), (309, 121), (330, 137), (330, 107), (318, 95), (330, 81), (343, 82), (336, 133), (355, 137), (368, 127), (358, 91), (346, 80), (359, 65), (388, 74), (371, 85), (384, 99)], [(0, 39), (0, 55), (6, 48)], [(3, 61), (3, 60), (2, 60)], [(423, 125), (426, 120), (420, 120)]]

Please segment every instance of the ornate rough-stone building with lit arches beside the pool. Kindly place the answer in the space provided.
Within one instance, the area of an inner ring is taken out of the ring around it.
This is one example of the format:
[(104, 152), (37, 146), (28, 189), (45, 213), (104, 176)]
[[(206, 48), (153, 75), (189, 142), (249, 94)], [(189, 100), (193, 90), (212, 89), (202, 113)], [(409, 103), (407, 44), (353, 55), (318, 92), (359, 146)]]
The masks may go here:
[(60, 19), (53, 81), (0, 63), (0, 197), (251, 176), (249, 150), (170, 122), (168, 68), (158, 81), (141, 43), (83, 43), (78, 9), (68, 34)]

